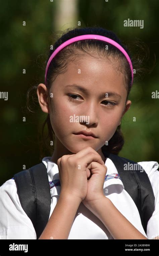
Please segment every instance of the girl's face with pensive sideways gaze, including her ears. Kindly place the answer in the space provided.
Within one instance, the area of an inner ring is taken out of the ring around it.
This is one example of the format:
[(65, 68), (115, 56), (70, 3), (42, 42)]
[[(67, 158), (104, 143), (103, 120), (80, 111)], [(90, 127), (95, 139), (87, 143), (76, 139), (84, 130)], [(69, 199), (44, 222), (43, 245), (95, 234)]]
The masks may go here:
[[(131, 105), (128, 100), (125, 106), (127, 92), (123, 74), (117, 68), (113, 59), (85, 55), (80, 61), (69, 62), (67, 71), (56, 77), (50, 103), (46, 100), (46, 86), (38, 86), (39, 103), (45, 113), (50, 113), (56, 147), (61, 152), (75, 154), (87, 146), (101, 152), (101, 147), (113, 136)], [(96, 138), (74, 134), (84, 130), (94, 133)]]

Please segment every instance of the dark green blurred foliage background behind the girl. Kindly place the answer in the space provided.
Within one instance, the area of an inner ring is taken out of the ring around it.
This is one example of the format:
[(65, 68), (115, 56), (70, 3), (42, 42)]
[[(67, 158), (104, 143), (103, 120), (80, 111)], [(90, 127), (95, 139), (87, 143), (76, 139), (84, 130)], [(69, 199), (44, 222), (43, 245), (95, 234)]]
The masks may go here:
[[(14, 173), (41, 162), (38, 134), (47, 114), (40, 107), (27, 112), (26, 94), (37, 83), (44, 83), (46, 52), (54, 42), (53, 34), (66, 28), (101, 26), (112, 30), (130, 44), (136, 38), (148, 46), (147, 67), (152, 68), (135, 82), (129, 99), (131, 108), (122, 119), (125, 144), (119, 156), (139, 161), (158, 161), (159, 99), (158, 90), (158, 0), (28, 0), (2, 1), (1, 20), (1, 102), (0, 185)], [(144, 20), (144, 28), (124, 27), (123, 21)], [(23, 21), (26, 26), (23, 26)], [(136, 50), (135, 50), (136, 51)], [(143, 52), (143, 55), (147, 55)], [(145, 57), (144, 56), (144, 57)], [(154, 64), (154, 60), (156, 62)], [(23, 74), (23, 69), (26, 74)], [(38, 105), (38, 103), (36, 103)], [(23, 117), (26, 122), (23, 122)], [(133, 122), (136, 117), (136, 122)], [(43, 157), (49, 156), (45, 151)]]

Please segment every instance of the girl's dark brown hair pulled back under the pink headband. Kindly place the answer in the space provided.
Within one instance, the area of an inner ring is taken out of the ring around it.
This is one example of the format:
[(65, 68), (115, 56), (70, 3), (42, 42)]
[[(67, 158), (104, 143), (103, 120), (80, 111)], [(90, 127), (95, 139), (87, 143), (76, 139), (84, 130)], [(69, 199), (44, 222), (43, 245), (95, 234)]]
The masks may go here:
[[(84, 35), (84, 34), (98, 34), (98, 35), (109, 37), (112, 40), (116, 41), (125, 49), (125, 51), (129, 55), (129, 57), (133, 63), (133, 67), (134, 67), (135, 61), (133, 62), (133, 60), (131, 58), (131, 53), (128, 51), (127, 47), (120, 41), (120, 39), (115, 35), (115, 33), (112, 31), (106, 30), (104, 28), (101, 28), (101, 27), (96, 27), (96, 26), (85, 27), (85, 28), (74, 28), (72, 30), (67, 29), (66, 31), (64, 31), (62, 36), (54, 43), (52, 49), (49, 51), (47, 60), (45, 62), (45, 67), (46, 67), (46, 64), (47, 64), (51, 54), (55, 51), (55, 49), (60, 44), (62, 44), (63, 42), (65, 42), (66, 40), (68, 40), (72, 37)], [(106, 44), (108, 45), (108, 49), (109, 49), (108, 51), (105, 51)], [(52, 85), (53, 81), (56, 79), (58, 74), (62, 74), (66, 71), (67, 65), (70, 61), (73, 61), (73, 57), (74, 58), (80, 57), (81, 55), (83, 55), (85, 53), (91, 55), (91, 51), (93, 51), (93, 53), (97, 53), (106, 58), (111, 57), (111, 58), (119, 60), (118, 63), (120, 63), (120, 65), (118, 66), (118, 68), (124, 74), (124, 86), (127, 91), (127, 97), (126, 97), (126, 101), (127, 101), (129, 93), (130, 93), (130, 89), (131, 89), (131, 86), (130, 86), (131, 70), (130, 70), (130, 66), (129, 66), (125, 56), (122, 54), (122, 52), (120, 52), (112, 44), (109, 44), (109, 43), (106, 43), (103, 41), (99, 41), (99, 40), (95, 40), (95, 39), (81, 40), (81, 41), (74, 42), (74, 43), (66, 46), (64, 49), (62, 49), (53, 58), (53, 60), (50, 63), (50, 66), (48, 68), (48, 72), (47, 72), (47, 85), (46, 86), (48, 88), (49, 95), (50, 95), (50, 89), (51, 89), (51, 85)], [(138, 62), (138, 66), (140, 66), (142, 60), (136, 59), (136, 63), (137, 62)], [(141, 68), (139, 68), (139, 71), (140, 71), (139, 73), (141, 73), (143, 70)], [(138, 72), (138, 68), (136, 68), (136, 72)], [(33, 89), (37, 89), (37, 86), (38, 85), (30, 88), (27, 93), (27, 107), (29, 110), (30, 110), (29, 94)], [(126, 101), (125, 101), (125, 104), (126, 104)], [(44, 128), (45, 128), (46, 124), (48, 127), (48, 134), (47, 134), (47, 137), (44, 138)], [(46, 143), (48, 138), (49, 138), (48, 143)], [(53, 142), (55, 141), (55, 134), (54, 134), (54, 131), (51, 126), (50, 115), (48, 114), (45, 122), (43, 123), (43, 127), (42, 127), (42, 141), (39, 142), (39, 143), (41, 143), (41, 151), (40, 151), (41, 158), (44, 157), (43, 149), (42, 149), (42, 147), (44, 145), (47, 147), (47, 149), (49, 150), (49, 152), (51, 154), (53, 153), (54, 147), (50, 146), (50, 141), (53, 141)], [(117, 127), (114, 135), (109, 140), (108, 146), (104, 145), (102, 148), (104, 148), (106, 151), (109, 151), (110, 153), (118, 155), (118, 153), (122, 149), (123, 145), (124, 145), (124, 137), (123, 137), (123, 134), (121, 131), (121, 126), (119, 125)]]

